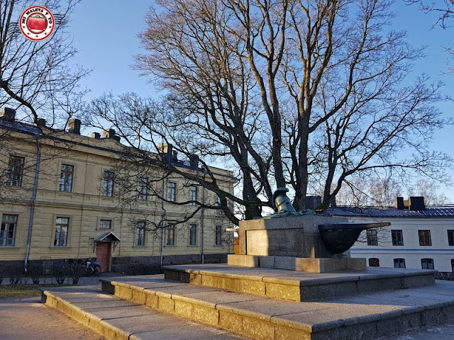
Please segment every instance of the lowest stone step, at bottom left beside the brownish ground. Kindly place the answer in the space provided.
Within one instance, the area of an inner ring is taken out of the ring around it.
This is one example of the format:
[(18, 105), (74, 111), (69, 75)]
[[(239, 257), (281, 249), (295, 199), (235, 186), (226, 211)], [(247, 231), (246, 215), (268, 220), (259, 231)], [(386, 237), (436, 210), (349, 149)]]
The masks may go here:
[(42, 296), (46, 305), (111, 340), (248, 339), (119, 299), (97, 286), (46, 288)]

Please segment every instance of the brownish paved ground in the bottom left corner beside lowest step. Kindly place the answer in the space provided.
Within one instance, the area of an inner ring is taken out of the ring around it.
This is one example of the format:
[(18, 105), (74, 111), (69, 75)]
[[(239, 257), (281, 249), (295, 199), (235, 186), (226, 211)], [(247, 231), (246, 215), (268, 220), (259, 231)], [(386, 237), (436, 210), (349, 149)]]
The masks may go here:
[(40, 303), (40, 296), (0, 300), (1, 340), (106, 340), (65, 314)]

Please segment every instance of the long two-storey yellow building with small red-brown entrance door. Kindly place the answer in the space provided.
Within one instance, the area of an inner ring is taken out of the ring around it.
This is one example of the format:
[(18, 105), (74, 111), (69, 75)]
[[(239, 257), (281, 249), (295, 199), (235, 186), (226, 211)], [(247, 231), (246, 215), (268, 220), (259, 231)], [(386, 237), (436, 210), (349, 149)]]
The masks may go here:
[[(134, 263), (196, 263), (202, 254), (205, 262), (224, 261), (232, 251), (224, 232), (231, 223), (219, 210), (181, 204), (216, 205), (217, 196), (182, 176), (124, 159), (128, 148), (114, 130), (85, 137), (79, 120), (58, 131), (44, 120), (19, 123), (14, 115), (4, 108), (0, 118), (0, 261), (96, 257), (110, 271)], [(162, 152), (151, 155), (204, 176), (196, 157), (179, 160), (171, 145)], [(210, 171), (233, 193), (231, 171)], [(186, 222), (172, 224), (183, 217)]]

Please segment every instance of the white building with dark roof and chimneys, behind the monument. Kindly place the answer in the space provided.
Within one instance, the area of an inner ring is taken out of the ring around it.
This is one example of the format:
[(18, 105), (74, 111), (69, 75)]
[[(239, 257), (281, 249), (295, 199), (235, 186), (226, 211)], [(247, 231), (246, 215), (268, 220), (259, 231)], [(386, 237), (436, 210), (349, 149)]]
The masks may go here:
[(336, 207), (326, 214), (351, 222), (391, 222), (365, 230), (350, 249), (368, 266), (454, 272), (454, 205), (425, 207), (423, 198), (396, 201), (396, 208)]

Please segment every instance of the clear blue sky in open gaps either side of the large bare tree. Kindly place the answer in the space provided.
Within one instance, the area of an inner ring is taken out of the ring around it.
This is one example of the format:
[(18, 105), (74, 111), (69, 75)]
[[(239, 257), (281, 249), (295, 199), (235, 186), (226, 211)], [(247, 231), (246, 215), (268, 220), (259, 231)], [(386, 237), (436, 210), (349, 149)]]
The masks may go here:
[[(152, 4), (153, 1), (145, 0), (85, 0), (77, 6), (70, 32), (79, 50), (74, 62), (94, 68), (83, 81), (83, 85), (91, 90), (88, 98), (106, 91), (114, 94), (134, 91), (141, 96), (160, 96), (145, 77), (139, 77), (138, 72), (131, 69), (134, 55), (141, 52), (137, 33), (145, 28), (145, 13)], [(417, 6), (406, 6), (402, 0), (395, 1), (392, 11), (396, 13), (394, 28), (406, 30), (411, 45), (427, 47), (426, 57), (416, 64), (415, 75), (423, 72), (432, 81), (443, 81), (445, 94), (453, 95), (454, 75), (442, 76), (441, 73), (447, 59), (442, 46), (454, 45), (454, 26), (447, 30), (432, 29), (435, 15), (426, 15)], [(446, 116), (452, 117), (454, 103), (443, 103), (440, 108)], [(438, 131), (433, 149), (448, 152), (454, 158), (453, 136), (454, 126)], [(453, 169), (450, 175), (454, 179)], [(454, 203), (454, 191), (446, 187), (441, 189)]]

